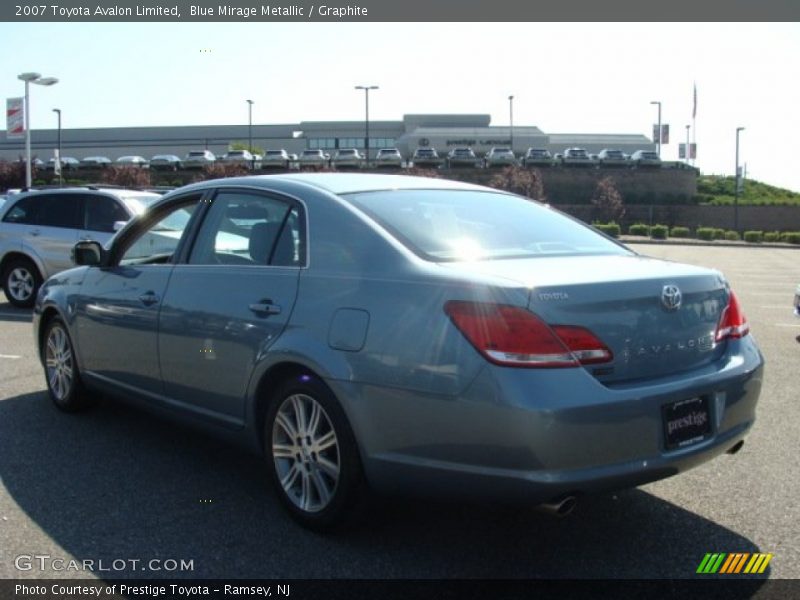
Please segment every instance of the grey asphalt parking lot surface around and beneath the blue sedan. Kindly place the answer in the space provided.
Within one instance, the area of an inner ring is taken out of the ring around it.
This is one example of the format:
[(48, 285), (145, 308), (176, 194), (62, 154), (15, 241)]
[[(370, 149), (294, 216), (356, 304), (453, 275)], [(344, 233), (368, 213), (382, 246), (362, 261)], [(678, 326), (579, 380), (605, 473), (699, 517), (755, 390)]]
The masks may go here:
[[(800, 319), (791, 310), (800, 251), (635, 249), (728, 276), (767, 359), (758, 420), (737, 455), (584, 498), (561, 520), (375, 499), (351, 529), (309, 533), (285, 516), (258, 457), (114, 402), (81, 416), (56, 411), (30, 312), (0, 295), (0, 578), (91, 576), (51, 564), (20, 571), (20, 555), (126, 561), (98, 573), (115, 577), (684, 578), (707, 552), (769, 552), (769, 577), (800, 577)], [(193, 569), (130, 567), (151, 559)]]

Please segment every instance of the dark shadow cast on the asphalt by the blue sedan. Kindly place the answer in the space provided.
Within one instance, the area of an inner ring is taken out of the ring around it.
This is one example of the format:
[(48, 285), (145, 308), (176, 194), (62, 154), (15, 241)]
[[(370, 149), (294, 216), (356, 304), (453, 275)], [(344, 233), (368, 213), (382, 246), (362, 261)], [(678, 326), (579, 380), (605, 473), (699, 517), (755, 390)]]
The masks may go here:
[[(376, 497), (346, 529), (315, 534), (286, 516), (260, 457), (118, 402), (64, 414), (44, 392), (0, 400), (0, 480), (64, 558), (193, 561), (113, 577), (687, 578), (707, 552), (759, 551), (641, 490), (565, 519)], [(8, 525), (10, 547), (37, 551), (30, 525)]]

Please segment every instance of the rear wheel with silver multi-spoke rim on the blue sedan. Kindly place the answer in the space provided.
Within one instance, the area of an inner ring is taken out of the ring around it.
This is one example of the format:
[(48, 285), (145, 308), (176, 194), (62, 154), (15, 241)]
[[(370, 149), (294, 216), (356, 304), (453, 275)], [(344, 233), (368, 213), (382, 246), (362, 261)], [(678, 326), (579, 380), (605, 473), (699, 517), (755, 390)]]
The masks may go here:
[(284, 382), (267, 411), (264, 446), (270, 478), (292, 518), (316, 531), (346, 522), (361, 496), (361, 459), (324, 383), (310, 375)]

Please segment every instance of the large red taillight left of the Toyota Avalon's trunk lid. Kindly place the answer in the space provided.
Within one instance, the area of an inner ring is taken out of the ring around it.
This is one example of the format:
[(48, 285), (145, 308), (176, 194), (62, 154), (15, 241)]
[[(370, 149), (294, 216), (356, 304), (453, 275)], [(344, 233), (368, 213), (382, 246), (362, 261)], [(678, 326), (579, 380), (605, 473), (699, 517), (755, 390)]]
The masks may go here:
[(577, 367), (613, 355), (588, 329), (548, 326), (516, 306), (451, 301), (445, 313), (464, 337), (493, 363), (516, 367)]

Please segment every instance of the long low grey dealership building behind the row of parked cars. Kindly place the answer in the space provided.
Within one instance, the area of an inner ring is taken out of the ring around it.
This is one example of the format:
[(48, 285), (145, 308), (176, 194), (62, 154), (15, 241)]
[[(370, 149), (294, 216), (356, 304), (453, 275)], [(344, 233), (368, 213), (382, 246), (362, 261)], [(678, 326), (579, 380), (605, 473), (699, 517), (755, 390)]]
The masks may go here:
[[(61, 154), (82, 159), (106, 156), (112, 160), (124, 155), (150, 158), (156, 154), (185, 156), (191, 150), (211, 150), (224, 154), (232, 142), (247, 142), (252, 133), (253, 146), (265, 150), (285, 149), (299, 154), (306, 149), (323, 149), (333, 156), (339, 148), (365, 146), (365, 122), (302, 121), (286, 125), (207, 125), (184, 127), (110, 127), (64, 129), (61, 131)], [(369, 147), (374, 156), (379, 148), (398, 148), (410, 157), (419, 147), (435, 148), (440, 155), (450, 149), (470, 146), (483, 155), (493, 146), (510, 146), (524, 154), (528, 148), (546, 148), (552, 154), (566, 148), (580, 147), (589, 153), (615, 148), (628, 154), (636, 150), (654, 150), (655, 144), (638, 134), (546, 133), (535, 126), (491, 125), (490, 115), (404, 115), (400, 121), (370, 121)], [(32, 155), (51, 158), (58, 143), (56, 129), (32, 129)], [(7, 139), (0, 132), (0, 160), (16, 160), (25, 153), (22, 139)]]

